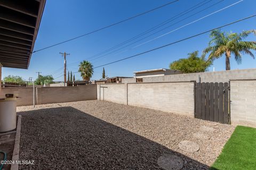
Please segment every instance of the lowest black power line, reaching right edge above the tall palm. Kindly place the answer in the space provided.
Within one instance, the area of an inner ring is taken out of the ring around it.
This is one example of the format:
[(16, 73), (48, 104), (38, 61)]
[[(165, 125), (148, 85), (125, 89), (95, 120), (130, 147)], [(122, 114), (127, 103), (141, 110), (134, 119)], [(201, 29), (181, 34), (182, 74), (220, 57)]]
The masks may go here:
[(231, 22), (231, 23), (228, 23), (228, 24), (225, 24), (225, 25), (222, 25), (222, 26), (217, 27), (217, 28), (213, 28), (213, 29), (208, 30), (208, 31), (204, 31), (204, 32), (198, 33), (197, 35), (190, 36), (190, 37), (187, 37), (187, 38), (184, 38), (184, 39), (181, 39), (181, 40), (175, 41), (175, 42), (170, 43), (170, 44), (166, 44), (166, 45), (161, 46), (161, 47), (157, 47), (157, 48), (154, 48), (154, 49), (150, 49), (150, 50), (148, 50), (148, 51), (146, 51), (146, 52), (142, 52), (142, 53), (139, 53), (139, 54), (136, 54), (136, 55), (130, 56), (130, 57), (122, 58), (121, 60), (117, 60), (117, 61), (114, 61), (114, 62), (110, 62), (110, 63), (107, 63), (107, 64), (103, 64), (103, 65), (99, 65), (99, 66), (93, 67), (93, 69), (96, 69), (96, 68), (98, 68), (98, 67), (102, 67), (102, 66), (105, 66), (105, 65), (109, 65), (109, 64), (117, 63), (117, 62), (120, 62), (120, 61), (123, 61), (123, 60), (127, 60), (127, 59), (129, 59), (129, 58), (132, 58), (132, 57), (135, 57), (135, 56), (139, 56), (139, 55), (142, 55), (142, 54), (146, 54), (146, 53), (149, 53), (149, 52), (153, 52), (154, 50), (161, 49), (161, 48), (164, 48), (164, 47), (167, 47), (167, 46), (173, 45), (173, 44), (177, 44), (177, 43), (180, 43), (181, 41), (185, 41), (185, 40), (187, 40), (187, 39), (190, 39), (190, 38), (194, 38), (194, 37), (197, 37), (197, 36), (203, 35), (203, 34), (205, 34), (205, 33), (207, 33), (207, 32), (211, 32), (211, 31), (213, 31), (213, 30), (220, 29), (220, 28), (223, 28), (223, 27), (227, 27), (228, 25), (231, 25), (231, 24), (234, 24), (234, 23), (237, 23), (237, 22), (241, 22), (241, 21), (244, 21), (244, 20), (247, 20), (247, 19), (253, 18), (254, 16), (256, 16), (256, 14), (251, 15), (251, 16), (248, 16), (248, 17), (243, 18), (243, 19), (240, 19), (240, 20), (237, 20), (237, 21), (234, 21), (234, 22)]

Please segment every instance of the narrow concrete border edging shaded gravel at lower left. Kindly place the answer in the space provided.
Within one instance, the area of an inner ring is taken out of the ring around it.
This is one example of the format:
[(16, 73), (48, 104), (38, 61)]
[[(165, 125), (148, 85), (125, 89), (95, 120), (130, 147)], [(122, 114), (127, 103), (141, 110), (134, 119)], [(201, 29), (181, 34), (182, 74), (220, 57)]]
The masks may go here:
[[(13, 153), (12, 153), (12, 160), (14, 162), (19, 160), (20, 130), (21, 130), (21, 115), (18, 115), (18, 123), (17, 123), (17, 129), (16, 129), (15, 143), (14, 143), (14, 149), (13, 149)], [(18, 170), (18, 168), (19, 168), (18, 164), (12, 164), (11, 165), (11, 170)]]

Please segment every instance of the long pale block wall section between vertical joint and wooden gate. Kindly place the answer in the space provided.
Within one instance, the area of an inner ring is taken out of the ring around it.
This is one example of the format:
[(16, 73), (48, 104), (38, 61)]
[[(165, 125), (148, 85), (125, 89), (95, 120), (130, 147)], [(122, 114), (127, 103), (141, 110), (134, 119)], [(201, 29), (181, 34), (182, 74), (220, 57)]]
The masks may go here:
[(128, 105), (194, 117), (194, 82), (128, 84)]

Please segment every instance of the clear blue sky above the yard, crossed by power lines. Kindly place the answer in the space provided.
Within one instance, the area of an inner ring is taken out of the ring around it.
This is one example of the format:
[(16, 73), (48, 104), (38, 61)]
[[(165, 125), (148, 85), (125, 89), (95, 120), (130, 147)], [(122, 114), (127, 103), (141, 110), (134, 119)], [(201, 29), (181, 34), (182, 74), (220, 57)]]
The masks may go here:
[[(42, 72), (42, 75), (52, 74), (54, 78), (57, 78), (63, 74), (63, 57), (59, 54), (59, 52), (70, 53), (70, 55), (67, 56), (67, 69), (68, 71), (76, 72), (78, 70), (78, 64), (80, 61), (86, 60), (87, 58), (119, 43), (122, 43), (123, 41), (130, 39), (133, 36), (137, 36), (141, 32), (146, 31), (155, 25), (172, 18), (172, 16), (179, 14), (180, 12), (183, 12), (202, 1), (203, 0), (180, 0), (179, 2), (165, 6), (154, 12), (139, 16), (138, 18), (132, 19), (130, 21), (115, 25), (111, 28), (107, 28), (105, 30), (101, 30), (74, 41), (69, 41), (68, 43), (34, 53), (31, 57), (28, 70), (4, 67), (2, 77), (7, 75), (20, 75), (25, 80), (28, 80), (29, 77), (33, 77), (33, 80), (35, 80), (37, 77), (36, 72), (39, 71)], [(197, 11), (200, 11), (207, 6), (220, 1), (221, 0), (212, 0), (201, 8), (198, 8), (198, 10), (184, 15), (182, 18), (174, 20), (169, 24), (166, 24), (164, 27), (182, 20), (183, 18), (196, 13)], [(48, 0), (45, 5), (45, 10), (43, 13), (34, 50), (59, 43), (60, 41), (67, 40), (69, 38), (83, 35), (86, 32), (99, 29), (111, 23), (129, 18), (135, 14), (145, 12), (151, 8), (155, 8), (168, 2), (170, 2), (170, 0)], [(150, 36), (144, 40), (139, 41), (138, 43), (118, 50), (117, 52), (110, 55), (98, 58), (97, 60), (92, 60), (91, 62), (93, 66), (109, 63), (127, 56), (144, 52), (151, 48), (172, 43), (173, 41), (177, 41), (182, 38), (193, 36), (197, 33), (219, 27), (220, 25), (233, 22), (235, 20), (242, 19), (246, 16), (256, 13), (256, 1), (244, 0), (243, 2), (229, 7), (226, 10), (215, 13), (203, 20), (174, 31), (169, 35), (158, 38), (154, 41), (150, 41), (149, 43), (142, 46), (133, 48), (134, 46), (144, 43), (147, 40), (153, 39), (159, 35), (163, 35), (166, 32), (179, 28), (182, 25), (197, 20), (207, 14), (220, 10), (221, 8), (235, 2), (238, 2), (238, 0), (221, 1), (219, 4), (194, 15), (189, 19), (172, 25), (166, 30), (158, 32), (156, 35)], [(233, 25), (229, 25), (222, 30), (241, 32), (243, 30), (256, 29), (255, 21), (256, 18), (252, 18)], [(133, 71), (168, 68), (171, 62), (179, 60), (179, 58), (187, 57), (188, 53), (191, 53), (195, 50), (199, 50), (199, 53), (201, 54), (202, 50), (207, 46), (209, 40), (209, 33), (206, 33), (205, 35), (189, 39), (145, 55), (107, 65), (105, 66), (106, 75), (108, 75), (108, 77), (132, 77)], [(246, 40), (255, 40), (255, 37), (250, 36)], [(255, 54), (255, 52), (253, 53)], [(232, 57), (230, 64), (231, 69), (255, 68), (256, 59), (253, 60), (250, 56), (244, 55), (242, 64), (237, 64), (234, 60), (234, 57)], [(215, 71), (225, 70), (225, 57), (221, 57), (220, 59), (214, 61), (209, 71), (212, 71), (213, 67), (215, 67)], [(100, 79), (101, 74), (102, 67), (95, 69), (92, 79)], [(79, 73), (76, 73), (75, 76), (76, 79), (81, 79)], [(63, 76), (55, 79), (55, 81), (63, 81)]]

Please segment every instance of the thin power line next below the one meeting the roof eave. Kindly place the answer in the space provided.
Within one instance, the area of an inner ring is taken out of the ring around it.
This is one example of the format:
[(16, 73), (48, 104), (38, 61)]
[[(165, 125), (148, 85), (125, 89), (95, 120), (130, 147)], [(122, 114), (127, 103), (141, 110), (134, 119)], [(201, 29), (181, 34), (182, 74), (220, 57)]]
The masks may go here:
[[(206, 2), (206, 1), (208, 1), (208, 2)], [(132, 38), (130, 38), (130, 39), (124, 41), (123, 43), (117, 44), (116, 46), (111, 47), (111, 48), (108, 48), (108, 49), (104, 50), (103, 52), (100, 52), (100, 53), (98, 53), (98, 54), (95, 54), (95, 55), (93, 55), (93, 56), (87, 58), (86, 60), (90, 60), (91, 58), (93, 58), (93, 57), (95, 57), (95, 56), (102, 55), (102, 54), (104, 54), (104, 53), (106, 53), (106, 52), (109, 52), (109, 51), (112, 50), (112, 49), (115, 49), (115, 48), (120, 47), (120, 46), (122, 46), (122, 45), (124, 45), (124, 44), (127, 44), (127, 43), (131, 42), (132, 40), (137, 39), (137, 38), (139, 38), (139, 37), (141, 37), (141, 36), (143, 36), (143, 35), (146, 35), (147, 33), (151, 32), (151, 31), (154, 31), (155, 29), (157, 29), (157, 28), (159, 28), (159, 27), (162, 27), (163, 25), (165, 25), (165, 24), (167, 24), (167, 23), (169, 23), (169, 22), (171, 22), (171, 21), (173, 21), (173, 20), (175, 20), (175, 19), (178, 19), (178, 18), (180, 18), (181, 16), (183, 16), (183, 15), (185, 15), (185, 14), (191, 12), (191, 11), (194, 11), (194, 10), (196, 10), (197, 8), (203, 6), (203, 5), (205, 5), (205, 4), (207, 4), (207, 3), (211, 2), (211, 1), (213, 1), (213, 0), (210, 0), (210, 1), (209, 1), (209, 0), (205, 0), (205, 1), (201, 2), (201, 3), (198, 3), (198, 4), (196, 4), (196, 5), (194, 5), (194, 6), (190, 7), (190, 8), (188, 8), (187, 10), (185, 10), (185, 11), (183, 11), (183, 12), (177, 14), (177, 15), (172, 16), (172, 18), (170, 18), (170, 19), (168, 19), (168, 20), (166, 20), (166, 21), (164, 21), (164, 22), (162, 22), (162, 23), (159, 23), (159, 24), (156, 25), (155, 27), (150, 28), (150, 29), (148, 29), (147, 31), (144, 31), (144, 32), (140, 33), (139, 35), (134, 36), (134, 37), (132, 37)], [(204, 3), (204, 2), (206, 2), (206, 3)], [(204, 3), (204, 4), (202, 4), (202, 3)], [(200, 4), (202, 4), (202, 5), (200, 5)], [(199, 6), (198, 6), (198, 5), (199, 5)], [(196, 7), (196, 6), (198, 6), (198, 7)], [(194, 7), (196, 7), (196, 8), (194, 8)], [(193, 9), (193, 8), (194, 8), (194, 9)], [(179, 16), (179, 15), (180, 15), (180, 16)]]

